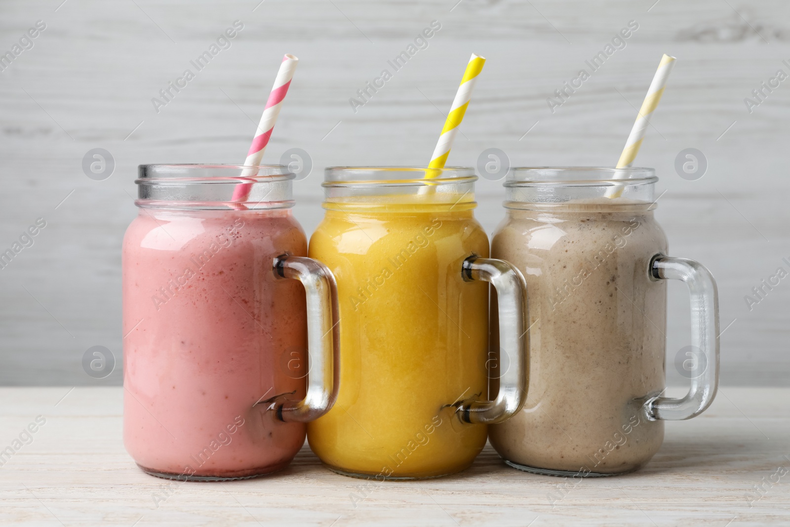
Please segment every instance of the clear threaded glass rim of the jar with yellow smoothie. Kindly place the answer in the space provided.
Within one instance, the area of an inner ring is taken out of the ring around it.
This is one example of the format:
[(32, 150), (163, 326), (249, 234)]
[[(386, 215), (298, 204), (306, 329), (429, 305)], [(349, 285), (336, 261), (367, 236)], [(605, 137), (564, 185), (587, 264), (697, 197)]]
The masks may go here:
[[(427, 178), (427, 175), (432, 177)], [(472, 167), (428, 168), (419, 165), (402, 166), (342, 166), (324, 169), (325, 187), (343, 186), (434, 186), (477, 181)]]

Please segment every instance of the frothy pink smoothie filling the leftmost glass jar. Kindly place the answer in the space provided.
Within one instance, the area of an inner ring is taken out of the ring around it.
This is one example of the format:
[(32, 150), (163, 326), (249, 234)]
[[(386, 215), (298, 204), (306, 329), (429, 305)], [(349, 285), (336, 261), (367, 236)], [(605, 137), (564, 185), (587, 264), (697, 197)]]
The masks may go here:
[(141, 468), (256, 476), (303, 445), (303, 423), (255, 405), (305, 392), (304, 289), (272, 272), (285, 252), (307, 254), (289, 210), (140, 209), (123, 239), (123, 435)]

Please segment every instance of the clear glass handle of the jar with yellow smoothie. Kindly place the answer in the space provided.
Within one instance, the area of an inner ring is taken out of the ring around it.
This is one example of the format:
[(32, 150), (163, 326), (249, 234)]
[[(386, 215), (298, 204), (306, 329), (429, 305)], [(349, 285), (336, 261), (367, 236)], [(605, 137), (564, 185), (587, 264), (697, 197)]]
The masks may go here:
[[(502, 423), (521, 410), (529, 371), (529, 337), (526, 336), (527, 285), (514, 265), (504, 260), (470, 256), (461, 271), (465, 281), (482, 280), (496, 288), (499, 345), (510, 356), (510, 367), (499, 378), (494, 401), (465, 401), (457, 409), (465, 423)], [(490, 375), (489, 375), (490, 377)]]

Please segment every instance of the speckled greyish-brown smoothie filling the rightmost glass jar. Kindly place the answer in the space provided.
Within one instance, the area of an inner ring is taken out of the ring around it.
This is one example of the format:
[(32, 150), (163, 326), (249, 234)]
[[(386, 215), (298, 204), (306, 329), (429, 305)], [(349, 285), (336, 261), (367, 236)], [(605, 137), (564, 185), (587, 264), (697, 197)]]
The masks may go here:
[(491, 257), (527, 281), (529, 390), (521, 412), (489, 428), (491, 444), (525, 468), (636, 470), (664, 439), (664, 423), (641, 413), (664, 390), (666, 284), (648, 276), (664, 232), (648, 204), (624, 198), (517, 205), (529, 209), (508, 210)]

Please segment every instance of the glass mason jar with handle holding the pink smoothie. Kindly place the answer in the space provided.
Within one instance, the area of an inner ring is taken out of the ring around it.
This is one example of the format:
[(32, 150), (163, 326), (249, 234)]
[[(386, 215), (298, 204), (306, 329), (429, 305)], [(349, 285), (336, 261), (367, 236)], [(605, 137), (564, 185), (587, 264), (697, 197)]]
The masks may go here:
[[(124, 443), (155, 476), (282, 469), (337, 395), (336, 289), (306, 258), (294, 175), (243, 170), (139, 168), (122, 256)], [(239, 183), (243, 204), (230, 201)]]

